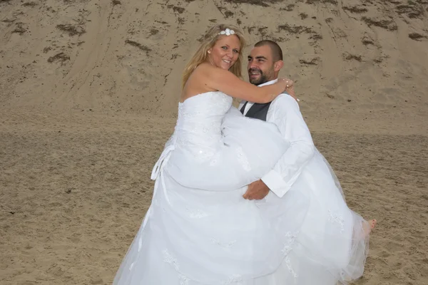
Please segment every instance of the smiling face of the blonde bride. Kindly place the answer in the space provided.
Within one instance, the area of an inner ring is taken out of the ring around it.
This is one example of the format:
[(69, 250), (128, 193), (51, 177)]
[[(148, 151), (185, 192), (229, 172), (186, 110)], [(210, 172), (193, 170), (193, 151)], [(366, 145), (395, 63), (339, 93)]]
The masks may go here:
[(212, 48), (208, 50), (211, 64), (229, 70), (238, 60), (240, 41), (238, 36), (220, 36)]

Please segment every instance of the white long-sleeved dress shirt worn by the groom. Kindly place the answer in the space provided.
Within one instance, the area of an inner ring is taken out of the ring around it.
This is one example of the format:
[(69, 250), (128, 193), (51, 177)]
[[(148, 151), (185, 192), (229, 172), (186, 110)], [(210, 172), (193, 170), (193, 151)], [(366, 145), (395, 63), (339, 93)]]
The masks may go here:
[[(259, 87), (275, 82), (277, 79), (260, 84)], [(239, 110), (243, 108), (244, 104), (245, 101), (240, 103)], [(244, 115), (251, 106), (253, 103), (248, 102), (245, 106)], [(315, 145), (302, 113), (300, 113), (299, 104), (286, 93), (277, 96), (272, 101), (269, 110), (267, 110), (266, 121), (275, 124), (284, 140), (290, 144), (275, 167), (261, 178), (275, 195), (282, 197), (290, 190), (303, 167), (314, 154)]]

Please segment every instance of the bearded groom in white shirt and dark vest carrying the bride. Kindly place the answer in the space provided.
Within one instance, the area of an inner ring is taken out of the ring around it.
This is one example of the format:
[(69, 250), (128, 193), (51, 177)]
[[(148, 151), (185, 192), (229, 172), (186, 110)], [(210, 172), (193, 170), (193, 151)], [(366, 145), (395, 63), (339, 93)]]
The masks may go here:
[[(257, 86), (275, 83), (283, 66), (280, 46), (274, 41), (259, 41), (248, 56), (250, 83)], [(289, 93), (294, 96), (292, 88)], [(265, 104), (243, 101), (239, 105), (240, 112), (246, 117), (275, 124), (289, 144), (275, 167), (260, 180), (248, 185), (243, 195), (245, 199), (263, 199), (270, 191), (278, 197), (284, 196), (315, 152), (310, 131), (297, 101), (291, 95), (283, 93)]]

